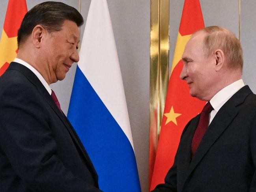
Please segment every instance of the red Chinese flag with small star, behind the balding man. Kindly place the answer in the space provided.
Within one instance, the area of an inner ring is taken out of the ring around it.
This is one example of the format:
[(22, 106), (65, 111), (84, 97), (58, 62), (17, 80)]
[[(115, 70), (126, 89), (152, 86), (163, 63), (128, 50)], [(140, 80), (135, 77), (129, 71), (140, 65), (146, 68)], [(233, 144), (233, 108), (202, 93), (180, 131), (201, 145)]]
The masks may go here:
[(190, 119), (201, 112), (205, 101), (189, 95), (189, 86), (179, 78), (183, 63), (181, 56), (191, 34), (204, 28), (199, 0), (185, 0), (172, 63), (171, 76), (164, 107), (164, 116), (150, 185), (153, 190), (173, 165), (181, 133)]

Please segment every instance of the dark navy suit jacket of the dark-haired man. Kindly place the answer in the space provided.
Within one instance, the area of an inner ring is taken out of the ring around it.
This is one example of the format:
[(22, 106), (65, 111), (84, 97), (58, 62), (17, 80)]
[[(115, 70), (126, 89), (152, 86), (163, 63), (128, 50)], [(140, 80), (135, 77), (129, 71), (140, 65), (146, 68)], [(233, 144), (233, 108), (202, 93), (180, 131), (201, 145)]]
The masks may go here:
[(0, 77), (0, 192), (102, 192), (75, 130), (39, 79), (12, 62)]

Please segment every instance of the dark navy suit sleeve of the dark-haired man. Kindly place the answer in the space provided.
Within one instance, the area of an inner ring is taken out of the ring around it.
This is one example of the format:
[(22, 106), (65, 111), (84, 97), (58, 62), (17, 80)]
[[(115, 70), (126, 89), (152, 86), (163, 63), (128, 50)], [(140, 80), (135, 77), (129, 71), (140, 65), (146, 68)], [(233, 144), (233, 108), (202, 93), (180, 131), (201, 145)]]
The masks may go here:
[(0, 97), (0, 150), (31, 191), (102, 192), (75, 177), (56, 150), (49, 113), (38, 93), (23, 84), (9, 86)]

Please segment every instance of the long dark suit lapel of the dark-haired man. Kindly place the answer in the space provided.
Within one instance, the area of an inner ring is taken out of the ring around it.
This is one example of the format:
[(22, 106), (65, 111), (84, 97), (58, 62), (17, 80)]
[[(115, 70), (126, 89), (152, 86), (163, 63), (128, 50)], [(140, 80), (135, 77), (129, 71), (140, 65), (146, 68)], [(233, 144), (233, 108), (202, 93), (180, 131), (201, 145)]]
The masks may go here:
[(80, 139), (78, 138), (75, 130), (73, 130), (72, 125), (69, 123), (69, 121), (65, 117), (65, 115), (62, 114), (62, 112), (60, 112), (58, 106), (55, 104), (55, 102), (53, 101), (49, 92), (45, 89), (45, 87), (40, 82), (40, 80), (37, 78), (37, 76), (32, 71), (30, 71), (30, 69), (28, 69), (27, 67), (25, 67), (19, 63), (16, 63), (16, 62), (11, 62), (7, 70), (20, 71), (22, 74), (24, 74), (26, 76), (26, 78), (28, 78), (28, 80), (32, 84), (34, 84), (36, 86), (38, 92), (42, 95), (42, 97), (45, 99), (45, 101), (50, 105), (52, 110), (54, 110), (54, 112), (57, 114), (57, 116), (61, 119), (61, 121), (65, 125), (66, 129), (68, 130), (69, 134), (71, 135), (71, 138), (77, 144), (78, 148), (82, 152), (81, 154), (82, 154), (83, 158), (85, 159), (86, 163), (88, 163), (90, 165), (90, 167), (92, 167), (92, 169), (91, 169), (92, 173), (97, 181), (97, 173), (93, 167), (93, 164), (92, 164), (87, 152), (85, 151), (82, 143), (80, 142)]

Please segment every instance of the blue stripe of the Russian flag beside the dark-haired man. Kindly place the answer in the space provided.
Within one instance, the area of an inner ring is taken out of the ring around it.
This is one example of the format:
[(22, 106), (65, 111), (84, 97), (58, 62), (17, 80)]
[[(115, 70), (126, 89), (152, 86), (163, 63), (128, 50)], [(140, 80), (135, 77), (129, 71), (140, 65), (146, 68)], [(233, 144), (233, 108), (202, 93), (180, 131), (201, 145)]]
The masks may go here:
[(69, 111), (104, 192), (140, 192), (135, 154), (127, 136), (77, 67)]

